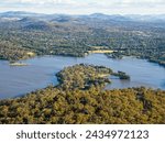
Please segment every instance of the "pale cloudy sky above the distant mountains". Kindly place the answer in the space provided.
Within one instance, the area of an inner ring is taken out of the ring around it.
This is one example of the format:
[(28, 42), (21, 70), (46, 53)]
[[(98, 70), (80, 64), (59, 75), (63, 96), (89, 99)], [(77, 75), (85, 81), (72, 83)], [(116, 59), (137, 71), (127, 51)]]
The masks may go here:
[(165, 0), (0, 0), (0, 12), (165, 14)]

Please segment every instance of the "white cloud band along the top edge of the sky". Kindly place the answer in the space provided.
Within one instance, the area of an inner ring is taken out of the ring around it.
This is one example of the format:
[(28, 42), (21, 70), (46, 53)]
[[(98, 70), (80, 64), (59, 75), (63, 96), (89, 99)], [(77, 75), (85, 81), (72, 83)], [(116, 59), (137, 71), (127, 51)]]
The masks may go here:
[(3, 4), (68, 4), (68, 6), (101, 6), (101, 7), (132, 7), (148, 4), (165, 4), (164, 0), (0, 0)]

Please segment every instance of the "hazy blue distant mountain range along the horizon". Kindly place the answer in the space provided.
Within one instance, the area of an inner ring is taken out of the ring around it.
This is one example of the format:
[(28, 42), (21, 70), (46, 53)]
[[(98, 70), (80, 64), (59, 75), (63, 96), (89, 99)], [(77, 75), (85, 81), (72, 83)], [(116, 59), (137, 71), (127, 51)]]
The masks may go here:
[(140, 22), (165, 22), (165, 14), (154, 14), (154, 15), (140, 15), (140, 14), (128, 14), (128, 15), (120, 15), (120, 14), (103, 14), (103, 13), (94, 13), (89, 15), (67, 15), (67, 14), (44, 14), (44, 13), (32, 13), (32, 12), (24, 12), (24, 11), (8, 11), (0, 13), (0, 18), (8, 18), (8, 19), (22, 19), (25, 16), (31, 18), (40, 18), (46, 19), (57, 22), (68, 22), (70, 20), (77, 19), (99, 19), (106, 21), (140, 21)]

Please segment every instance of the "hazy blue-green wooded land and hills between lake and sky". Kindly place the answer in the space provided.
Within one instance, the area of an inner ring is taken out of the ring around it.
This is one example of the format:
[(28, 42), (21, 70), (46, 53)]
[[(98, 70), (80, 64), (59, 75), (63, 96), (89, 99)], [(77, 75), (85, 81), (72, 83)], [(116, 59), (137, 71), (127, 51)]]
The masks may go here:
[[(36, 55), (85, 56), (94, 46), (116, 53), (110, 57), (133, 55), (165, 63), (164, 21), (141, 21), (119, 15), (3, 13), (0, 15), (0, 57), (25, 58)], [(12, 46), (11, 46), (12, 45)], [(15, 54), (16, 50), (16, 54)]]

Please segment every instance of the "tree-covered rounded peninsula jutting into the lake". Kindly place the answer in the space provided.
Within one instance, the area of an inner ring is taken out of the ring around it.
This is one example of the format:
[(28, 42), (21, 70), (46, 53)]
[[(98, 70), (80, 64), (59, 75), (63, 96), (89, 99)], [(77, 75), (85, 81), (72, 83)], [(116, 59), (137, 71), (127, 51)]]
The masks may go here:
[(106, 84), (110, 84), (108, 78), (112, 74), (110, 68), (103, 66), (94, 65), (75, 65), (64, 68), (57, 73), (57, 79), (62, 89), (89, 89), (94, 87), (105, 87)]

